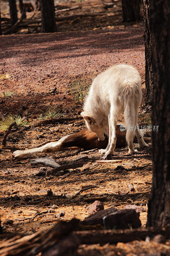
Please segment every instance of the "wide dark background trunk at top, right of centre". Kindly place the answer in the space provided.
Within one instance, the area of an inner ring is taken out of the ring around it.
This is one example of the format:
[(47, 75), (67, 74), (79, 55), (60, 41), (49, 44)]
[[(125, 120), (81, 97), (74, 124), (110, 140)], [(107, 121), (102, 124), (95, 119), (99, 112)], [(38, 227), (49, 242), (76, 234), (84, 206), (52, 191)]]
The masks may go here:
[(139, 0), (122, 0), (122, 21), (130, 22), (140, 20)]

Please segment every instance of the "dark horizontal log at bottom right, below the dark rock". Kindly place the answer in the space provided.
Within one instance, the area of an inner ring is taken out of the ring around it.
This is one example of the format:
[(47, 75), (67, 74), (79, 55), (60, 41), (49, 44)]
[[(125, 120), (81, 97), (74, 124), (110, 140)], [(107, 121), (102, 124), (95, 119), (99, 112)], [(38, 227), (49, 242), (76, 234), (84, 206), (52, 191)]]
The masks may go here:
[(152, 238), (158, 234), (169, 239), (170, 227), (74, 231), (73, 234), (80, 238), (81, 244), (117, 244), (119, 242), (127, 243), (134, 240), (145, 240), (146, 236)]

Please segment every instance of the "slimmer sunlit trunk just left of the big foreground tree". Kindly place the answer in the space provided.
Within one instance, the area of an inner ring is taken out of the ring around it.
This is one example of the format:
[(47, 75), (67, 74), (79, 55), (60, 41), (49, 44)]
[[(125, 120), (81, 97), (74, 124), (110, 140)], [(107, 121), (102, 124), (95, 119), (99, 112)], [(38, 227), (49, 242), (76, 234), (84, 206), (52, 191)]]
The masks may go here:
[(150, 30), (150, 8), (152, 0), (142, 0), (144, 14), (144, 45), (145, 45), (145, 88), (146, 88), (146, 106), (152, 105), (153, 91), (153, 50)]

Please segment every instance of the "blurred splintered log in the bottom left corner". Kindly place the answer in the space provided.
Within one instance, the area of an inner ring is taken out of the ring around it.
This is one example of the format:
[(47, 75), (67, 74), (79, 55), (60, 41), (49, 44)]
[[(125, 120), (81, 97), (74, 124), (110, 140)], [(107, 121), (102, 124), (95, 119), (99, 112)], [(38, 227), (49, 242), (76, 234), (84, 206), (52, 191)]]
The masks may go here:
[[(72, 219), (69, 222), (60, 221), (55, 227), (47, 231), (38, 231), (32, 235), (7, 240), (0, 244), (0, 256), (34, 256), (39, 252), (46, 252), (49, 248), (59, 243), (65, 236), (78, 226), (79, 220)], [(56, 254), (62, 255), (62, 254)]]

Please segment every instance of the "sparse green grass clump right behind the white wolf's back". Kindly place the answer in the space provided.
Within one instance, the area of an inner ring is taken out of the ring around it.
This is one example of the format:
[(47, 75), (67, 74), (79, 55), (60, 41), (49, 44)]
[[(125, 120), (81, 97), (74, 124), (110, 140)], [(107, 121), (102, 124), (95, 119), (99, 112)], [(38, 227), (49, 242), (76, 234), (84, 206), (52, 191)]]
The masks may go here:
[(70, 84), (70, 92), (71, 95), (73, 96), (74, 100), (79, 103), (79, 104), (83, 104), (83, 101), (85, 99), (85, 96), (88, 93), (88, 89), (92, 83), (92, 80), (95, 76), (95, 73), (93, 74), (93, 76), (90, 78), (88, 78), (86, 81), (84, 79), (84, 77), (82, 78), (77, 78), (74, 80), (73, 83)]

